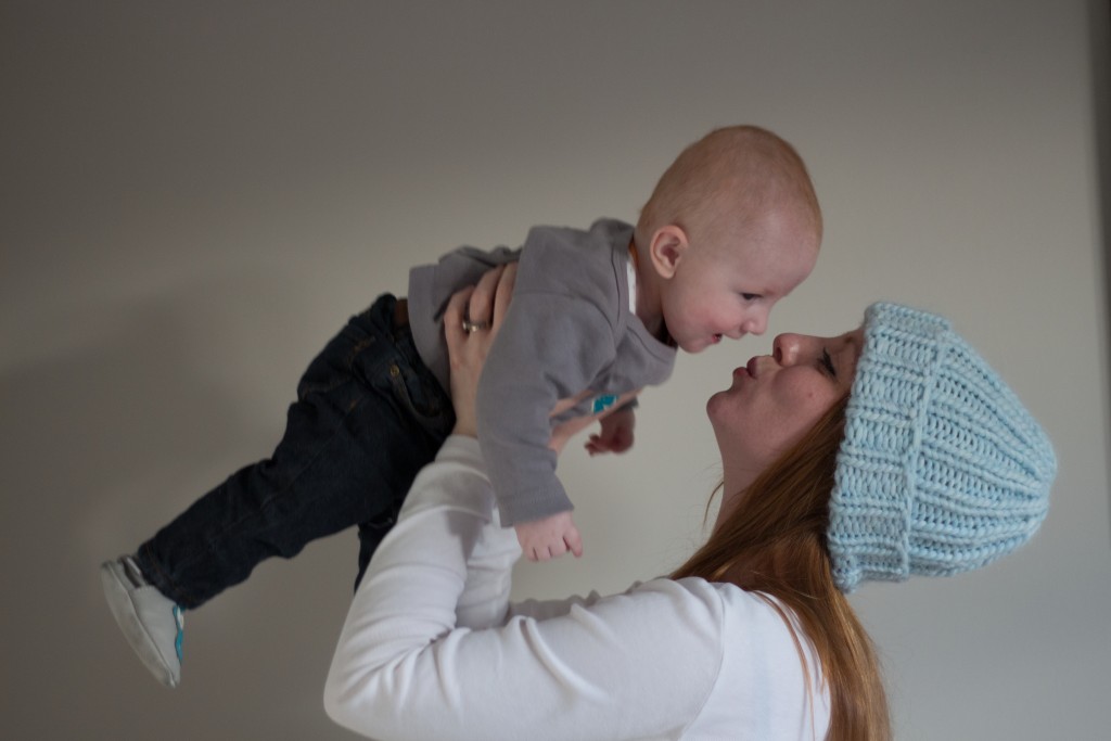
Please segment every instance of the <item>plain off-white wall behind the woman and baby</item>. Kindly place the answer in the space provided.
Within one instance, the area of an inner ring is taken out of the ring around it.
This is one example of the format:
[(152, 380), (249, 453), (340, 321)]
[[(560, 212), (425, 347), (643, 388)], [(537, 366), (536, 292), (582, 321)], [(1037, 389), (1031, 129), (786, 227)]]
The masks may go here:
[(519, 592), (678, 564), (718, 475), (705, 398), (775, 332), (902, 300), (1010, 380), (1061, 473), (1013, 558), (854, 598), (898, 735), (1105, 738), (1108, 26), (1094, 0), (4, 2), (0, 735), (349, 738), (320, 695), (353, 533), (191, 613), (172, 692), (98, 563), (268, 454), (304, 364), (410, 264), (634, 219), (682, 146), (755, 122), (811, 167), (818, 269), (769, 337), (645, 393), (633, 452), (564, 457), (587, 555)]

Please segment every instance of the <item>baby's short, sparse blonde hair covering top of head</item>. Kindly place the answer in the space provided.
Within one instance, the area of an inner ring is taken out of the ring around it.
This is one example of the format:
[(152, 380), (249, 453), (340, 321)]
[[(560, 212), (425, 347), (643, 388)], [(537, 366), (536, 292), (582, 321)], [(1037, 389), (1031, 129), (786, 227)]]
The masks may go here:
[(689, 146), (660, 177), (637, 221), (637, 243), (675, 224), (692, 242), (741, 233), (757, 217), (789, 204), (821, 243), (822, 212), (807, 166), (791, 144), (754, 126), (715, 129)]

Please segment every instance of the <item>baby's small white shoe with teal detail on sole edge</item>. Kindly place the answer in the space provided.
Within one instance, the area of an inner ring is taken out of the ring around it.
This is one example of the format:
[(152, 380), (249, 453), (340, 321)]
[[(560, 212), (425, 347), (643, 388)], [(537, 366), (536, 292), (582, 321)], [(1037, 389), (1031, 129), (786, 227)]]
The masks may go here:
[(158, 681), (177, 687), (181, 681), (184, 631), (181, 608), (143, 578), (130, 555), (104, 561), (100, 580), (123, 638)]

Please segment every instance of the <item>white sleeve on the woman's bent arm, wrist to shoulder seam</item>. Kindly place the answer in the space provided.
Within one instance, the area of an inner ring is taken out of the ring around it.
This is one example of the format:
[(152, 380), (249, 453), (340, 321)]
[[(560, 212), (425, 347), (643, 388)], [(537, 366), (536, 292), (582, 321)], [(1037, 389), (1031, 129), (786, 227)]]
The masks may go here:
[[(470, 587), (507, 614), (513, 547), (477, 445), (449, 439), (354, 597), (324, 690), (329, 715), (381, 741), (680, 735), (721, 668), (717, 591), (653, 580), (541, 610), (557, 615), (544, 620), (457, 627)], [(481, 578), (469, 572), (474, 561), (486, 561)]]

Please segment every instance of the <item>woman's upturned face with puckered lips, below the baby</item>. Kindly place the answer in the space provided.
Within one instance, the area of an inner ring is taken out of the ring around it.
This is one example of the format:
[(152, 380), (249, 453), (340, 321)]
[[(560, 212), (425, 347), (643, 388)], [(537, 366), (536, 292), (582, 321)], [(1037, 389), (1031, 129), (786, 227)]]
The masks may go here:
[(780, 334), (772, 354), (733, 371), (732, 385), (707, 403), (725, 491), (745, 488), (849, 392), (863, 342), (862, 329), (839, 337)]

